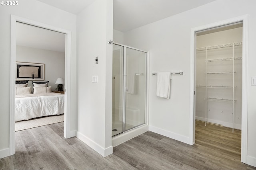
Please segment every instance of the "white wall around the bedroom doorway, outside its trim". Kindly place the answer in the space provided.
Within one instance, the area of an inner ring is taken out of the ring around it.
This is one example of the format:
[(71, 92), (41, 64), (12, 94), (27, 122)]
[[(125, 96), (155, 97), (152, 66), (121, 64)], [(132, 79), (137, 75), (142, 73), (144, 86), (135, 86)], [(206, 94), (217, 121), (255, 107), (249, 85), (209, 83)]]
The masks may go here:
[(10, 18), (19, 16), (40, 23), (52, 25), (72, 32), (71, 38), (71, 108), (70, 129), (76, 129), (76, 16), (35, 0), (19, 1), (17, 6), (0, 6), (0, 158), (9, 152), (9, 117), (10, 117)]

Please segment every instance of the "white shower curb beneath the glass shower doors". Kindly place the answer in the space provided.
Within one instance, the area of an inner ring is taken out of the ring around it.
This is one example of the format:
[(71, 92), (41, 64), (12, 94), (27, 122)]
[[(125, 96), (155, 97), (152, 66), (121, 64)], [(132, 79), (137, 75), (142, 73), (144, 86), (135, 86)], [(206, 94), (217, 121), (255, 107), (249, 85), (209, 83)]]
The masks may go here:
[(135, 129), (132, 129), (130, 131), (127, 131), (123, 134), (120, 134), (116, 137), (112, 137), (112, 146), (116, 147), (117, 145), (120, 145), (121, 143), (124, 143), (126, 141), (129, 141), (130, 139), (141, 135), (142, 133), (145, 133), (148, 131), (148, 125), (142, 125), (140, 127), (136, 127)]

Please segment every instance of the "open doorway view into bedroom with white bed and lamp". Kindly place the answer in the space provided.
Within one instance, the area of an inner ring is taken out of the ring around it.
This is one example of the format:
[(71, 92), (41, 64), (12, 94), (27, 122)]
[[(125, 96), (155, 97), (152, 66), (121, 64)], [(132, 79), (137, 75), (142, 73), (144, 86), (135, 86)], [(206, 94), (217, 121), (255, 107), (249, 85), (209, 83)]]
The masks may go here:
[(15, 131), (64, 121), (65, 34), (16, 23)]

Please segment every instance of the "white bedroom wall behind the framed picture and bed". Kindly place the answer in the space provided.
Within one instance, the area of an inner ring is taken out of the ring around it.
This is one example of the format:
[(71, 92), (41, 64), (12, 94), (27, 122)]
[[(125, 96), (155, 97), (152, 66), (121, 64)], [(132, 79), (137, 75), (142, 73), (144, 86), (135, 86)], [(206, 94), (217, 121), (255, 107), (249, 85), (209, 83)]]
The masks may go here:
[[(52, 91), (55, 91), (55, 88), (57, 88), (58, 84), (55, 84), (57, 78), (65, 78), (65, 53), (16, 46), (16, 61), (44, 64), (44, 80), (42, 82), (49, 81), (48, 86), (52, 86)], [(28, 86), (32, 86), (31, 81), (29, 81)]]

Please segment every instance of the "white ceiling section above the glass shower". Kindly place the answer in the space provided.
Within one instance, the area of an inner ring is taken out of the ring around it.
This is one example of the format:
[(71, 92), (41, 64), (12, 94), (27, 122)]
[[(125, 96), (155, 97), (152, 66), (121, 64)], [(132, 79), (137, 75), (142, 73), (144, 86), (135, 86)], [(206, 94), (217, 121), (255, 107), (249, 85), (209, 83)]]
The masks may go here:
[(214, 0), (114, 0), (114, 29), (126, 32)]

